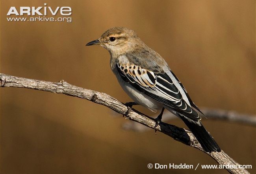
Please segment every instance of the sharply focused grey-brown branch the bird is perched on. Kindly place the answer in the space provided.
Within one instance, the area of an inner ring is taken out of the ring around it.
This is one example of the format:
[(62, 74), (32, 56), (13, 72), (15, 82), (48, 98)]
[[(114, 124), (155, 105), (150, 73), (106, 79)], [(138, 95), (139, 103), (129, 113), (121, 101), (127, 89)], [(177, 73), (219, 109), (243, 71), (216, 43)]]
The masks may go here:
[(172, 137), (176, 141), (180, 141), (185, 145), (201, 150), (202, 152), (211, 156), (211, 158), (215, 159), (215, 161), (217, 161), (219, 165), (224, 165), (224, 168), (228, 170), (228, 172), (230, 173), (249, 173), (245, 169), (239, 169), (239, 163), (234, 161), (234, 159), (230, 158), (223, 150), (221, 150), (221, 152), (205, 152), (201, 145), (198, 143), (195, 136), (189, 130), (179, 128), (174, 125), (169, 125), (166, 123), (160, 123), (156, 128), (154, 128), (154, 119), (148, 117), (147, 115), (141, 114), (140, 112), (134, 109), (130, 110), (129, 112), (128, 108), (123, 103), (109, 96), (106, 93), (80, 88), (78, 86), (71, 85), (63, 80), (59, 82), (47, 82), (34, 79), (26, 79), (22, 77), (15, 77), (1, 73), (0, 87), (28, 88), (34, 90), (48, 91), (52, 93), (61, 93), (73, 97), (87, 99), (94, 103), (102, 104), (114, 110), (115, 112), (118, 112), (119, 114), (126, 114), (126, 117), (132, 121), (141, 123), (142, 125), (145, 125), (149, 128), (156, 129), (159, 132), (162, 132), (163, 134)]

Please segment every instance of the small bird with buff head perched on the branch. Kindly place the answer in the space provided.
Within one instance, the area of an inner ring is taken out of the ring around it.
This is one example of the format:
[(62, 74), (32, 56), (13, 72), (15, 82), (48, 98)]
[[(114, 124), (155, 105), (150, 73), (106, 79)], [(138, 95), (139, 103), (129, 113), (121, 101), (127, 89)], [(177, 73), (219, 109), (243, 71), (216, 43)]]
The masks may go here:
[(156, 118), (156, 126), (166, 108), (184, 121), (206, 152), (221, 151), (200, 121), (200, 115), (204, 114), (193, 103), (182, 83), (165, 60), (142, 42), (135, 31), (113, 27), (86, 44), (90, 45), (99, 45), (109, 51), (111, 70), (136, 104), (153, 112), (162, 109)]

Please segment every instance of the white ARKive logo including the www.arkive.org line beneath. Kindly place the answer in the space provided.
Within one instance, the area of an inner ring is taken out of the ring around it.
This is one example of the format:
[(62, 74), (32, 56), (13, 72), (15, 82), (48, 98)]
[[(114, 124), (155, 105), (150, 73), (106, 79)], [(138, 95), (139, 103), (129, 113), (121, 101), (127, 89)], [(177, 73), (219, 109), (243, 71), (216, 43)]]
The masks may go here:
[[(9, 22), (72, 22), (72, 18), (68, 17), (72, 15), (71, 7), (50, 7), (44, 3), (42, 7), (10, 7), (7, 16), (22, 16), (22, 17), (7, 17)], [(27, 15), (30, 17), (23, 17)], [(55, 17), (61, 15), (63, 17)], [(36, 17), (38, 16), (38, 17)], [(49, 16), (49, 17), (48, 17)], [(64, 17), (65, 16), (65, 17)]]

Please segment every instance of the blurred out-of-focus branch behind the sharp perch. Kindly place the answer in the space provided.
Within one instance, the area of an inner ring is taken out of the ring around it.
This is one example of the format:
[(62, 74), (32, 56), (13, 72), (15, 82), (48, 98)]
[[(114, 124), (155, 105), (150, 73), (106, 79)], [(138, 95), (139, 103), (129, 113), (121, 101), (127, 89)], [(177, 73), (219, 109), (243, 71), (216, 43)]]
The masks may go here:
[[(239, 114), (235, 111), (226, 111), (226, 110), (216, 110), (203, 108), (202, 112), (207, 117), (207, 119), (216, 119), (216, 120), (225, 120), (235, 123), (241, 123), (244, 125), (256, 126), (256, 116), (255, 115), (246, 115)], [(154, 115), (157, 117), (157, 115)], [(162, 121), (168, 122), (172, 119), (177, 119), (178, 117), (170, 112), (163, 114)], [(122, 125), (125, 130), (133, 130), (136, 132), (144, 132), (149, 130), (147, 127), (138, 124), (136, 122), (127, 122)]]

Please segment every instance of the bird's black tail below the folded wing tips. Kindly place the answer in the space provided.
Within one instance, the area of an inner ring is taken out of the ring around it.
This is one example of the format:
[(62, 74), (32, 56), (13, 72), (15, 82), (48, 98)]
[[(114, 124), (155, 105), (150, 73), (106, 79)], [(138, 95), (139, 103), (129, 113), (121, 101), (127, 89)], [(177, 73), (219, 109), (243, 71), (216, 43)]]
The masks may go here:
[(193, 121), (191, 123), (184, 116), (181, 116), (181, 119), (195, 135), (198, 142), (206, 152), (221, 152), (221, 148), (219, 147), (219, 145), (216, 143), (210, 133), (204, 128), (200, 121), (197, 121), (197, 123), (199, 122), (198, 125), (196, 123), (193, 123)]

